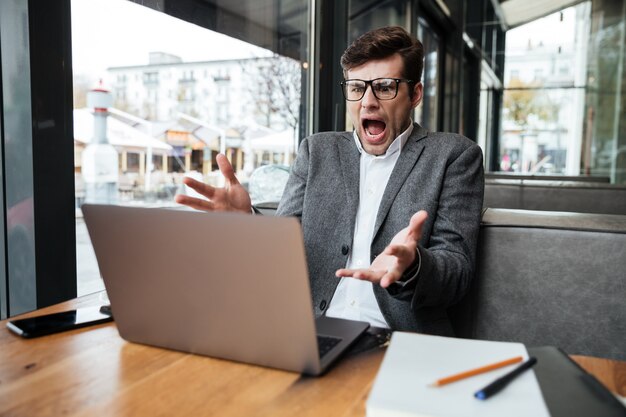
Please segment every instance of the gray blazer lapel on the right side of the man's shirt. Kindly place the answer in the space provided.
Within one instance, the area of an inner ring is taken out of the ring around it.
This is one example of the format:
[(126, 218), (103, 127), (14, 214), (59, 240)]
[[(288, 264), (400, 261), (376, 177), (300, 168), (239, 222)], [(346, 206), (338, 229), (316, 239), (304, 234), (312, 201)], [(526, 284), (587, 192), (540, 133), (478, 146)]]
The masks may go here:
[(391, 176), (389, 177), (389, 182), (387, 182), (387, 187), (383, 193), (383, 198), (380, 202), (380, 207), (378, 208), (378, 214), (376, 215), (374, 234), (372, 236), (376, 236), (378, 233), (378, 230), (387, 217), (387, 213), (398, 195), (400, 188), (402, 188), (402, 185), (422, 154), (422, 151), (424, 150), (424, 143), (420, 139), (425, 137), (426, 134), (427, 131), (424, 128), (417, 123), (414, 125), (413, 132), (404, 144), (404, 147), (400, 152), (400, 157), (396, 162), (396, 166), (393, 168)]

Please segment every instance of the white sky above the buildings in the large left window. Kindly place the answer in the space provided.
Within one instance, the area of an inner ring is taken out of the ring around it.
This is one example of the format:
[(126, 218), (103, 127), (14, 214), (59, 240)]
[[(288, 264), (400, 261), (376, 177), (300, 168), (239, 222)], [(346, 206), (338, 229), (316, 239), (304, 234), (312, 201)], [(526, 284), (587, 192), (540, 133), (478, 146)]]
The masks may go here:
[(265, 49), (212, 32), (128, 0), (72, 0), (75, 74), (99, 79), (114, 66), (145, 65), (150, 52), (184, 62), (268, 54)]

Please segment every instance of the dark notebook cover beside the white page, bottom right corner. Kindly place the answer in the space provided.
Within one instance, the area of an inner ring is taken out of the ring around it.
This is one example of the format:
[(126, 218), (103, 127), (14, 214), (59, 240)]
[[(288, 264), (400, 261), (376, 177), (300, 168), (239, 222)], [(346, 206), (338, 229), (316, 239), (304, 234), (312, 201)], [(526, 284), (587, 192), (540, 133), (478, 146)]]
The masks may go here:
[(537, 358), (535, 375), (552, 417), (626, 416), (626, 407), (562, 350), (546, 346), (528, 353)]

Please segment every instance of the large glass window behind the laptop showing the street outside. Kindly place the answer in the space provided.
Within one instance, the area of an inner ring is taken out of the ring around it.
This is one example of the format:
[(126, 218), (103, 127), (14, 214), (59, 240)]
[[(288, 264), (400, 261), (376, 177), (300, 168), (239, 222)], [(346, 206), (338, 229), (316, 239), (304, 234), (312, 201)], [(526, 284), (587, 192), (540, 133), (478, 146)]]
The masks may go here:
[[(82, 202), (174, 206), (175, 194), (192, 192), (184, 176), (221, 185), (218, 152), (245, 186), (261, 181), (256, 189), (270, 190), (254, 194), (253, 203), (280, 198), (282, 188), (265, 182), (284, 187), (306, 126), (309, 5), (270, 0), (260, 9), (252, 0), (209, 0), (216, 18), (206, 22), (201, 10), (184, 6), (174, 8), (182, 19), (127, 0), (71, 6), (74, 77), (81, 80), (74, 83), (74, 136), (76, 183), (84, 189), (76, 194), (83, 295), (102, 283)], [(103, 168), (104, 154), (111, 162)], [(280, 169), (253, 177), (266, 165)]]

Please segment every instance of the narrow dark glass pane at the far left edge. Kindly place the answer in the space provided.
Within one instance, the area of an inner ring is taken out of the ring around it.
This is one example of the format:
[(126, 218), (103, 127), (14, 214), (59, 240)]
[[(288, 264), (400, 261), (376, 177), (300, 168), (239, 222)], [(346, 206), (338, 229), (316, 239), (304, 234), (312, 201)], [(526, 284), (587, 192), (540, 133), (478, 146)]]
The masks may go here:
[[(4, 206), (0, 227), (6, 236), (0, 243), (0, 317), (37, 308), (35, 271), (35, 220), (33, 201), (33, 144), (28, 5), (0, 3), (0, 53), (3, 84), (0, 91), (0, 151)], [(6, 245), (6, 246), (5, 246)], [(6, 258), (5, 258), (6, 256)]]

